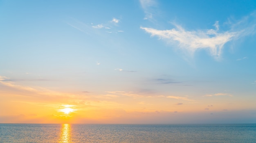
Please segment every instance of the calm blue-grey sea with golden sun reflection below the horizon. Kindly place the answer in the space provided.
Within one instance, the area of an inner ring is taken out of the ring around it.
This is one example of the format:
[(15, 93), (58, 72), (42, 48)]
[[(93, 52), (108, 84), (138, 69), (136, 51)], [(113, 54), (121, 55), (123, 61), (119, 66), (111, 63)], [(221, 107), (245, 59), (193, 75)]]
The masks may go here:
[(0, 124), (0, 143), (256, 143), (256, 124)]

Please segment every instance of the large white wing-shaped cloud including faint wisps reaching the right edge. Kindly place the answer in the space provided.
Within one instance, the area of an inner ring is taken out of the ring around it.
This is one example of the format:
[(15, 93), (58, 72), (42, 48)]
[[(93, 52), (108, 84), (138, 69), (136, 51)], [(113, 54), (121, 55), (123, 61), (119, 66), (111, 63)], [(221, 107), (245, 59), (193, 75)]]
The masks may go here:
[(175, 28), (170, 30), (158, 30), (142, 26), (140, 28), (150, 33), (152, 37), (157, 36), (159, 39), (164, 39), (192, 55), (197, 50), (205, 49), (209, 50), (213, 57), (219, 59), (227, 42), (255, 34), (255, 23), (256, 12), (253, 12), (236, 22), (229, 21), (227, 23), (229, 30), (226, 31), (219, 31), (218, 21), (213, 25), (215, 29), (207, 30), (186, 30), (174, 23)]

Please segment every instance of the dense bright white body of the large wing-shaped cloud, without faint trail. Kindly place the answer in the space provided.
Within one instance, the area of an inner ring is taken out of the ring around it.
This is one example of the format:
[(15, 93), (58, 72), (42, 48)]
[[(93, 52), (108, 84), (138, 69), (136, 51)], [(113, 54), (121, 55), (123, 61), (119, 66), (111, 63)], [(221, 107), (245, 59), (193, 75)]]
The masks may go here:
[(208, 49), (216, 58), (220, 57), (223, 45), (236, 35), (235, 32), (218, 32), (217, 30), (188, 31), (179, 25), (171, 30), (157, 30), (153, 28), (140, 27), (151, 36), (158, 36), (170, 43), (178, 43), (182, 49), (192, 54), (198, 49)]

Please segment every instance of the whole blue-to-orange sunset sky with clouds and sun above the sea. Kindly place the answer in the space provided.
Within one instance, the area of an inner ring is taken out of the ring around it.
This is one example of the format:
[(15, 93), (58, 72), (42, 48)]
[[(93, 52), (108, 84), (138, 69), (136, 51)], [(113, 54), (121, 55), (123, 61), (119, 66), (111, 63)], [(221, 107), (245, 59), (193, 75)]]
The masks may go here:
[(256, 124), (255, 0), (0, 0), (0, 123)]

